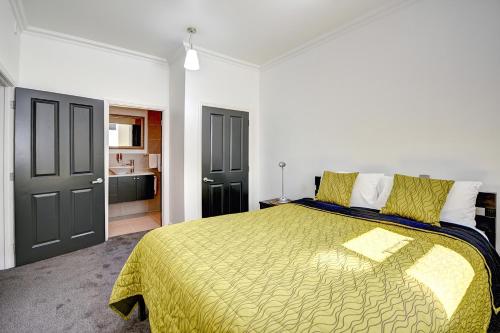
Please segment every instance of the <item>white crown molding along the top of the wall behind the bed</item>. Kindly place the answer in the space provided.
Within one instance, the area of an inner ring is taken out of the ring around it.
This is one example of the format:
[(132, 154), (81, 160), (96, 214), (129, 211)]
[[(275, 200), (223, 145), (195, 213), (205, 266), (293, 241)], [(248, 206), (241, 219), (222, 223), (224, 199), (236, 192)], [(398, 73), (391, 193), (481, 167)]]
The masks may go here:
[(285, 52), (284, 54), (277, 56), (260, 66), (262, 71), (266, 71), (288, 59), (292, 59), (297, 57), (298, 55), (308, 52), (309, 50), (315, 49), (323, 44), (326, 44), (340, 36), (347, 34), (351, 31), (357, 30), (367, 24), (377, 21), (395, 11), (404, 9), (419, 0), (395, 0), (390, 2), (389, 4), (379, 7), (368, 14), (359, 16), (358, 18), (350, 21), (347, 24), (342, 25), (341, 27), (322, 34), (290, 51)]

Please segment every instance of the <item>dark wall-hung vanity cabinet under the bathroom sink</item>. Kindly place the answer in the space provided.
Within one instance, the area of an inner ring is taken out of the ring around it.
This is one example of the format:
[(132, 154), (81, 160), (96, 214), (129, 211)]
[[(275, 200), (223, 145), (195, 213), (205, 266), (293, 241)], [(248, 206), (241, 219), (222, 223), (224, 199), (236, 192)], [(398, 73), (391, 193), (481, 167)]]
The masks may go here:
[(154, 175), (109, 177), (109, 203), (153, 199)]

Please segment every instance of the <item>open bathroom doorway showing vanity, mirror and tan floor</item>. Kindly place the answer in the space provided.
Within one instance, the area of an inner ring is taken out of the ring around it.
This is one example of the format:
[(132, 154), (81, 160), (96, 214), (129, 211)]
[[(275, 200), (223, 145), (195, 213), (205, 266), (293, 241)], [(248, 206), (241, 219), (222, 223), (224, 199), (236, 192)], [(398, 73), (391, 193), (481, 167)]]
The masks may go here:
[(162, 225), (162, 115), (109, 107), (108, 237)]

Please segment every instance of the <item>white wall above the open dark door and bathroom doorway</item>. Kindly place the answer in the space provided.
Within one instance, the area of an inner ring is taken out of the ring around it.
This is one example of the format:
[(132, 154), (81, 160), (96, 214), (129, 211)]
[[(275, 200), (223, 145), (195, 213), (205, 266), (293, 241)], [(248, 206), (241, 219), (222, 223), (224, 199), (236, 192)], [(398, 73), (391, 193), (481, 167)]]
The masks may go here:
[(25, 32), (19, 86), (85, 97), (168, 106), (168, 65)]

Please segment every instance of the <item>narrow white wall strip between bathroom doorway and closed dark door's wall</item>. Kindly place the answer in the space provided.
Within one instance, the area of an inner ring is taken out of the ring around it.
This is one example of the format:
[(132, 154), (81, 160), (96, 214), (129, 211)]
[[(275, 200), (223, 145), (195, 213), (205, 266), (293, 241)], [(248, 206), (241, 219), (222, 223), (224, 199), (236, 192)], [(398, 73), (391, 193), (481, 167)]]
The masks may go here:
[(170, 223), (184, 221), (184, 58), (170, 64)]

